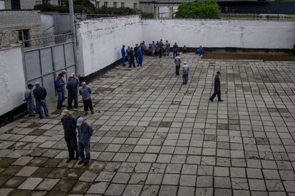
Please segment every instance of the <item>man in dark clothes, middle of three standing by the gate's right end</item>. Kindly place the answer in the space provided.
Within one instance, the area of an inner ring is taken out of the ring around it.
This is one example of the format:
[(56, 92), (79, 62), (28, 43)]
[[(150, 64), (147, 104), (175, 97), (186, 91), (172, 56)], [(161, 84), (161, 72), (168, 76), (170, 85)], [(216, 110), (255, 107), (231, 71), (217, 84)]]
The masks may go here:
[(78, 108), (78, 81), (72, 75), (68, 78), (68, 109), (72, 108), (72, 102), (74, 101), (74, 107)]

